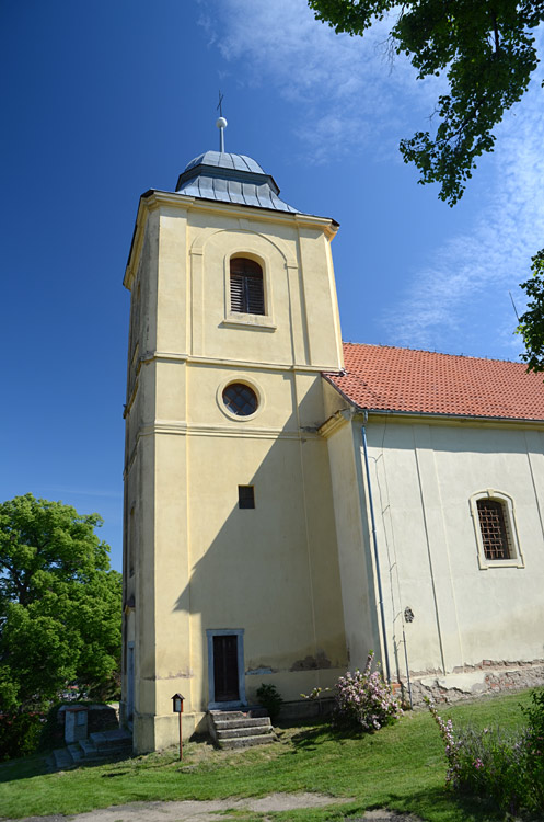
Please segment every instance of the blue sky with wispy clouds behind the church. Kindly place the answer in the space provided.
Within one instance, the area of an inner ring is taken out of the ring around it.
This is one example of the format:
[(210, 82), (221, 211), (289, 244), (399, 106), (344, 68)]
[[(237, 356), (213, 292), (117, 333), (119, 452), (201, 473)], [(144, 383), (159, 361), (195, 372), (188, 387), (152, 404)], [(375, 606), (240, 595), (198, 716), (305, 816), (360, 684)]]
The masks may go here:
[(518, 358), (509, 290), (521, 310), (544, 244), (544, 92), (450, 209), (397, 151), (441, 80), (391, 65), (386, 31), (337, 36), (304, 0), (2, 0), (0, 500), (97, 511), (120, 569), (134, 219), (142, 192), (218, 147), (219, 88), (227, 150), (340, 222), (345, 340)]

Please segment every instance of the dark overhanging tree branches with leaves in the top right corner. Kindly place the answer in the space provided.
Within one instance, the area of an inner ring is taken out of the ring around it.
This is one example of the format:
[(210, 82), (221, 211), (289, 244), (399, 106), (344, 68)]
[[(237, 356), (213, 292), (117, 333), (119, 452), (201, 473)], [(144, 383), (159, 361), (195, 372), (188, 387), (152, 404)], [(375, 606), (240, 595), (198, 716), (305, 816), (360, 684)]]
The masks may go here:
[(401, 141), (405, 162), (420, 183), (438, 182), (439, 197), (454, 205), (476, 168), (493, 151), (493, 129), (523, 96), (539, 62), (533, 30), (544, 20), (543, 0), (309, 0), (317, 20), (334, 30), (363, 35), (387, 12), (397, 11), (391, 44), (404, 53), (418, 79), (445, 73), (448, 93), (438, 98), (435, 133)]

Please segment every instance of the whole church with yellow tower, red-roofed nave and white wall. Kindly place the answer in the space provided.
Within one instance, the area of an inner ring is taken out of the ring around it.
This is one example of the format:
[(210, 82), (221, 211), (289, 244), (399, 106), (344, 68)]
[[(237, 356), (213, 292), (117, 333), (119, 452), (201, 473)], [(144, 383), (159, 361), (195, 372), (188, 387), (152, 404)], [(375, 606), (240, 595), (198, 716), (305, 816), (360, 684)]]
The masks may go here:
[[(222, 130), (227, 125), (218, 121)], [(342, 342), (331, 243), (243, 155), (141, 198), (125, 450), (123, 717), (138, 752), (370, 649), (408, 698), (544, 682), (544, 386)]]

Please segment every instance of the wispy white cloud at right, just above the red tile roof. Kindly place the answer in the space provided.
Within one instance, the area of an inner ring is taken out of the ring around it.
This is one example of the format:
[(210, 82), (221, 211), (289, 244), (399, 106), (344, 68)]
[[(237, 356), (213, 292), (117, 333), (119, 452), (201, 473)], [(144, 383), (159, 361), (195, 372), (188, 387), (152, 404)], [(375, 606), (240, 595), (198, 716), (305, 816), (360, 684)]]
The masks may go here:
[(512, 336), (516, 318), (508, 292), (522, 310), (518, 284), (530, 274), (531, 254), (544, 246), (543, 103), (533, 83), (505, 116), (497, 129), (491, 189), (477, 222), (433, 249), (432, 263), (412, 272), (409, 295), (384, 316), (397, 344), (443, 349), (449, 340), (445, 345), (454, 350), (456, 329), (472, 313), (481, 329), (493, 321), (489, 336), (501, 356), (517, 356), (521, 343)]

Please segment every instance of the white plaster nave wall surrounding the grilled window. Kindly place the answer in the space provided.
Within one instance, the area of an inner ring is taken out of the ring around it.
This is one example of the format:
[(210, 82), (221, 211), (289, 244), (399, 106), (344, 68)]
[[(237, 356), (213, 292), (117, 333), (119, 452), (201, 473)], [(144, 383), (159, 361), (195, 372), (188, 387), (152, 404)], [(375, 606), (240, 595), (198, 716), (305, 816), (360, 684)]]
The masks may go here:
[[(382, 567), (395, 570), (383, 573), (389, 620), (414, 614), (409, 669), (543, 659), (542, 433), (382, 420), (368, 425), (371, 483)], [(486, 489), (512, 499), (524, 567), (478, 563), (470, 501)]]

